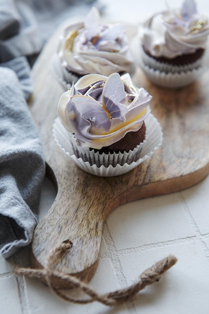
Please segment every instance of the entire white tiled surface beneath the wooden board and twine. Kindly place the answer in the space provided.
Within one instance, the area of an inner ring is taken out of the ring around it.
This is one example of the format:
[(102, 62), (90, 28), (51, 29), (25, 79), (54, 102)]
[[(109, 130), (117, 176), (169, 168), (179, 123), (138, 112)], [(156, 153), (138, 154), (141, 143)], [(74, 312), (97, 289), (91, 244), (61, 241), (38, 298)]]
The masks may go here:
[[(137, 24), (164, 0), (103, 1), (104, 18)], [(168, 1), (178, 7), (182, 1)], [(209, 16), (207, 0), (198, 8)], [(116, 12), (116, 14), (115, 14)], [(0, 314), (208, 314), (209, 312), (209, 177), (190, 189), (140, 200), (117, 208), (103, 230), (101, 257), (90, 285), (99, 292), (126, 287), (155, 261), (174, 254), (178, 262), (158, 283), (146, 287), (133, 302), (115, 308), (98, 302), (78, 305), (62, 301), (35, 279), (12, 274), (15, 264), (29, 265), (29, 247), (0, 258)], [(39, 218), (54, 198), (44, 182)], [(70, 291), (69, 293), (72, 293)]]

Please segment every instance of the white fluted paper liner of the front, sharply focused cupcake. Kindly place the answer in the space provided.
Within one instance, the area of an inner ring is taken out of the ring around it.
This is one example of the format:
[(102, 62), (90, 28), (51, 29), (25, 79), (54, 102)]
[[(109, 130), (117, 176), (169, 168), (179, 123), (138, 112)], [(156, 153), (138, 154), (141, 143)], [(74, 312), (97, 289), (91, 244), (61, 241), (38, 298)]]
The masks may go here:
[[(144, 120), (146, 125), (146, 138), (138, 149), (128, 153), (99, 154), (88, 148), (81, 148), (79, 152), (73, 150), (70, 134), (66, 131), (59, 118), (53, 124), (53, 137), (60, 149), (83, 171), (99, 176), (113, 177), (127, 173), (145, 161), (161, 145), (163, 135), (157, 119), (150, 113)], [(79, 147), (80, 148), (80, 147)], [(110, 155), (110, 156), (109, 156)], [(110, 158), (110, 159), (109, 159)], [(128, 160), (128, 163), (124, 162)], [(112, 165), (109, 165), (109, 163)], [(121, 165), (119, 164), (121, 163)], [(96, 164), (100, 164), (98, 167)]]

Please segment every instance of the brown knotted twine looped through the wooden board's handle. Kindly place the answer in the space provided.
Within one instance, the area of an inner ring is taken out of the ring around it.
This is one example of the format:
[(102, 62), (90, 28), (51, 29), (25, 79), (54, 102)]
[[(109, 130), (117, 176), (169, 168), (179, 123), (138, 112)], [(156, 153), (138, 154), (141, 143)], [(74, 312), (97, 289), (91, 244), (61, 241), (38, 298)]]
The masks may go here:
[[(170, 267), (172, 267), (177, 259), (173, 255), (169, 255), (162, 260), (156, 262), (150, 268), (144, 270), (139, 280), (124, 289), (119, 289), (113, 292), (98, 294), (88, 284), (74, 277), (73, 275), (64, 274), (55, 270), (55, 267), (59, 260), (70, 250), (72, 243), (70, 241), (64, 241), (59, 246), (53, 248), (47, 258), (43, 269), (34, 268), (20, 268), (17, 267), (14, 270), (14, 274), (17, 276), (26, 275), (29, 278), (35, 277), (44, 281), (50, 290), (57, 296), (65, 301), (86, 304), (93, 301), (98, 301), (108, 306), (115, 306), (120, 303), (130, 301), (139, 291), (154, 282), (159, 281), (163, 273), (165, 273)], [(53, 280), (60, 279), (65, 284), (70, 285), (72, 288), (76, 288), (80, 292), (88, 295), (88, 299), (76, 299), (64, 294), (60, 289), (54, 286)]]

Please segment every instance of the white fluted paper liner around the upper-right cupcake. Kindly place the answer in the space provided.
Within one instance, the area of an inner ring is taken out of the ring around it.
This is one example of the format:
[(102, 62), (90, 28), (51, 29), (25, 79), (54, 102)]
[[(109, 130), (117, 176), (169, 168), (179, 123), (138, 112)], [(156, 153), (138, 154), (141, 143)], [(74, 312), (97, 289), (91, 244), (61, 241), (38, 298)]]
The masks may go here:
[(196, 62), (184, 65), (173, 66), (158, 62), (146, 55), (141, 48), (137, 36), (131, 43), (131, 50), (134, 58), (148, 79), (154, 84), (166, 88), (181, 88), (191, 84), (208, 68), (208, 55), (205, 53)]

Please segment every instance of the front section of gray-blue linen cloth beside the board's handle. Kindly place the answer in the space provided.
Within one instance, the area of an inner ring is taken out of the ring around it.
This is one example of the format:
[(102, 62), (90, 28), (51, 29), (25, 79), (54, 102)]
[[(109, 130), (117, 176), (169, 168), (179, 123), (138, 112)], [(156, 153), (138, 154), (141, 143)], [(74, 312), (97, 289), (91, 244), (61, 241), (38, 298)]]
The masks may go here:
[(44, 161), (36, 127), (15, 73), (0, 67), (0, 254), (31, 241)]

